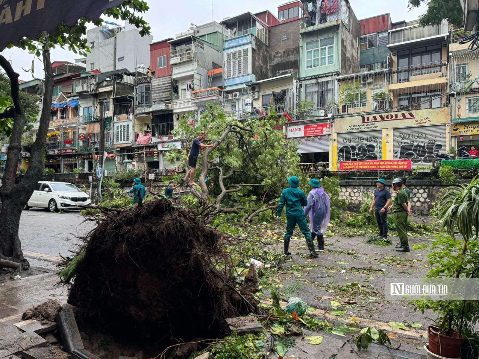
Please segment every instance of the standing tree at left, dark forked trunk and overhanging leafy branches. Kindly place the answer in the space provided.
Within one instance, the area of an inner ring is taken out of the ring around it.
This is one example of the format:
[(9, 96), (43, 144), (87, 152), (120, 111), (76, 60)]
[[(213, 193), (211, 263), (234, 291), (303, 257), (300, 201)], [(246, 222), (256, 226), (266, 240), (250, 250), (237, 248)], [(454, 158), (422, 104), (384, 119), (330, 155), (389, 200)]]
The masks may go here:
[[(112, 7), (104, 12), (106, 16), (114, 19), (128, 20), (140, 29), (140, 34), (149, 34), (148, 23), (139, 15), (148, 11), (145, 1), (125, 0), (119, 6)], [(3, 204), (2, 215), (0, 216), (0, 259), (2, 265), (15, 267), (19, 263), (22, 269), (30, 267), (28, 261), (23, 257), (22, 246), (18, 237), (20, 216), (23, 207), (34, 191), (34, 186), (41, 178), (45, 168), (45, 143), (46, 133), (51, 119), (51, 103), (53, 96), (53, 70), (50, 61), (50, 49), (60, 46), (82, 56), (89, 52), (86, 39), (86, 24), (92, 22), (87, 18), (80, 18), (73, 27), (67, 27), (61, 23), (53, 34), (43, 32), (35, 40), (23, 38), (18, 47), (28, 50), (32, 56), (41, 57), (45, 71), (44, 89), (45, 95), (42, 103), (42, 115), (40, 117), (37, 137), (31, 146), (30, 167), (19, 183), (15, 184), (19, 154), (22, 150), (22, 135), (26, 123), (25, 103), (22, 102), (20, 87), (18, 83), (19, 74), (13, 70), (11, 63), (0, 55), (0, 67), (3, 68), (10, 79), (11, 101), (13, 102), (13, 123), (11, 124), (10, 146), (7, 152), (5, 173), (2, 179), (0, 199)], [(101, 26), (103, 20), (95, 20), (93, 24)], [(9, 47), (13, 47), (10, 45)], [(6, 262), (11, 261), (13, 262)]]

